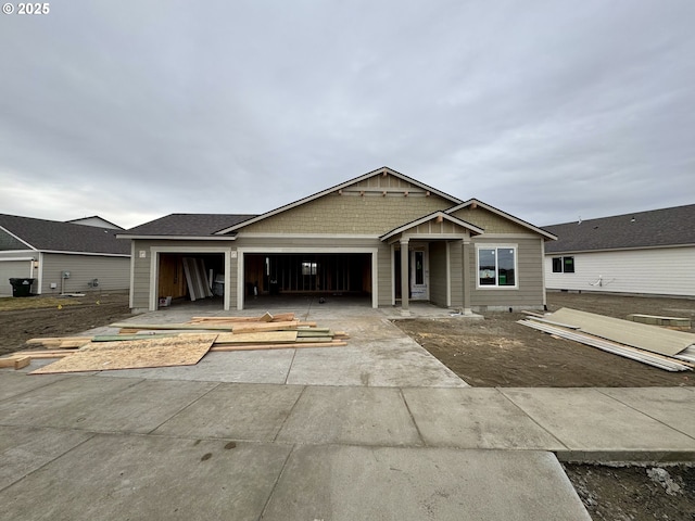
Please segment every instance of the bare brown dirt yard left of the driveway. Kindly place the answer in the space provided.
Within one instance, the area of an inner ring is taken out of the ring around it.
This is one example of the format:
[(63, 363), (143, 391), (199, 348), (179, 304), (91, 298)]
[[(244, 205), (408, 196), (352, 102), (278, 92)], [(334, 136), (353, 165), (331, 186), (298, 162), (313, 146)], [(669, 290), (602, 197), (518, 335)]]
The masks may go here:
[(36, 336), (67, 336), (131, 316), (126, 292), (0, 298), (0, 355), (26, 350)]

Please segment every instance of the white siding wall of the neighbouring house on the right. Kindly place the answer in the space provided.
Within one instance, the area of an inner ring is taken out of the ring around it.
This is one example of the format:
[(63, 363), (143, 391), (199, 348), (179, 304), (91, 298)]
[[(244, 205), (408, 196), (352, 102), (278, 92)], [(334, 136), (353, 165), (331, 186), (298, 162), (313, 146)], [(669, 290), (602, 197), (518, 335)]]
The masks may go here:
[[(574, 257), (573, 274), (554, 274), (553, 257)], [(695, 246), (545, 255), (549, 290), (695, 296)], [(598, 283), (601, 278), (601, 283)]]

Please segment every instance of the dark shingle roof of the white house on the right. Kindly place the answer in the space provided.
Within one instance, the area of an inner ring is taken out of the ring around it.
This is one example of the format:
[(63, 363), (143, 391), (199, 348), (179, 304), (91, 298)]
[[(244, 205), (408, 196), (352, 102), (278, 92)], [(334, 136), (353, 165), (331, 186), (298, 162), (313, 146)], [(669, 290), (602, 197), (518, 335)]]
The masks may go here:
[(544, 226), (546, 253), (695, 244), (695, 204)]

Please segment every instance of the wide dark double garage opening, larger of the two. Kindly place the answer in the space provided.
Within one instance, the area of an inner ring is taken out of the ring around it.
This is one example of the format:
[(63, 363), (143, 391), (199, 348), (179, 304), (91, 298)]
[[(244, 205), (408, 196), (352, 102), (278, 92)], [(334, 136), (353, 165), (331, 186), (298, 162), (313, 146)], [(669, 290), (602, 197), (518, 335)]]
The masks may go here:
[(372, 292), (368, 253), (245, 254), (244, 294), (364, 297)]

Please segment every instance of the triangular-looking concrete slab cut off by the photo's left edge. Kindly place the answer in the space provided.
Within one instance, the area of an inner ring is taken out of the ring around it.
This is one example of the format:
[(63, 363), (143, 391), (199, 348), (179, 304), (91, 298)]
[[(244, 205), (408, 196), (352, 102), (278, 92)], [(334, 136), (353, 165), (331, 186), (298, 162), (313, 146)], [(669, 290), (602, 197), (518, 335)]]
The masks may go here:
[(34, 427), (0, 427), (0, 491), (93, 434)]

